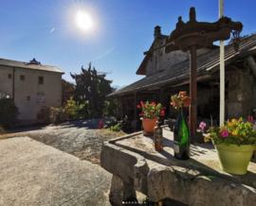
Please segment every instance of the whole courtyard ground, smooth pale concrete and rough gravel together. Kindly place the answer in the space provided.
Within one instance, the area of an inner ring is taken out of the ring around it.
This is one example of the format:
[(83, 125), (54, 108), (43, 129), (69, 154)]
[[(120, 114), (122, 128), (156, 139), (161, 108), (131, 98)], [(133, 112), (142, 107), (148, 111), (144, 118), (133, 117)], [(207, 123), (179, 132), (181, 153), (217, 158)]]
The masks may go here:
[[(103, 118), (103, 128), (111, 119)], [(0, 139), (0, 206), (109, 206), (112, 175), (101, 168), (101, 119), (12, 129)]]

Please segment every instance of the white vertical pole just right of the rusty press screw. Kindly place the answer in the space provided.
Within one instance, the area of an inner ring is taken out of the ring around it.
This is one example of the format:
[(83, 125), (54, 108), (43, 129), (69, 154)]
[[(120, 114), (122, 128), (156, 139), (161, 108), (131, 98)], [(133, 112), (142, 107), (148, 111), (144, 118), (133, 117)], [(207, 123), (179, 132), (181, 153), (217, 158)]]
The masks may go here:
[[(223, 0), (219, 0), (219, 18), (224, 15)], [(225, 121), (225, 65), (224, 65), (224, 41), (220, 41), (220, 127)]]

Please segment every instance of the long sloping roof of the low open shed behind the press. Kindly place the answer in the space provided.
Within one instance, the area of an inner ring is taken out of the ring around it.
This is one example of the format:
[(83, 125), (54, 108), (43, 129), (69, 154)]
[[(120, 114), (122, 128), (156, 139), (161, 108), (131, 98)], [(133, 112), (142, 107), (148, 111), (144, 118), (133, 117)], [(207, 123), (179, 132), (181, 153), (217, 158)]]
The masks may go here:
[[(210, 71), (219, 66), (219, 54), (219, 48), (216, 48), (209, 53), (197, 57), (197, 77), (210, 75)], [(240, 41), (240, 48), (238, 52), (234, 51), (233, 43), (229, 43), (225, 46), (225, 64), (228, 65), (234, 60), (255, 54), (256, 34), (253, 34)], [(144, 77), (115, 93), (108, 94), (108, 96), (110, 97), (119, 94), (133, 93), (139, 90), (151, 88), (153, 86), (172, 85), (181, 82), (181, 80), (187, 80), (189, 78), (190, 60), (186, 60), (172, 66), (169, 69), (155, 73), (148, 77)]]

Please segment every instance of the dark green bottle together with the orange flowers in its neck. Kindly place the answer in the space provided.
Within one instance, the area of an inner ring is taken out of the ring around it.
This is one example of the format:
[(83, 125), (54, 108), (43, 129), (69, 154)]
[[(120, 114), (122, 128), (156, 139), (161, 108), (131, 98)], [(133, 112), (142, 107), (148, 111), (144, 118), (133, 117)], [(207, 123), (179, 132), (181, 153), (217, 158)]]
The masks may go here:
[(190, 132), (183, 115), (183, 107), (189, 107), (192, 98), (187, 92), (172, 95), (172, 105), (179, 112), (174, 126), (174, 157), (181, 160), (190, 158)]

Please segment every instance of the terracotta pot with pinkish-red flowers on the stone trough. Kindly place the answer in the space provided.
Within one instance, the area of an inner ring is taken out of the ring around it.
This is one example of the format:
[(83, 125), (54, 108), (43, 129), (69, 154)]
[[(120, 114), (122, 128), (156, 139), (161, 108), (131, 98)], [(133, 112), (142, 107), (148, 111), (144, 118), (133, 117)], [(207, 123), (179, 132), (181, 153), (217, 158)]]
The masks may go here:
[[(140, 119), (142, 121), (143, 129), (146, 134), (153, 134), (154, 129), (156, 126), (156, 122), (159, 119), (159, 115), (164, 115), (164, 111), (162, 109), (162, 105), (160, 103), (155, 104), (155, 102), (150, 103), (149, 101), (146, 101), (144, 104), (142, 101), (140, 101), (142, 112), (140, 116), (142, 116)], [(140, 108), (139, 105), (137, 105), (137, 108)]]

